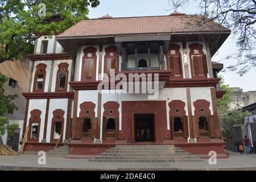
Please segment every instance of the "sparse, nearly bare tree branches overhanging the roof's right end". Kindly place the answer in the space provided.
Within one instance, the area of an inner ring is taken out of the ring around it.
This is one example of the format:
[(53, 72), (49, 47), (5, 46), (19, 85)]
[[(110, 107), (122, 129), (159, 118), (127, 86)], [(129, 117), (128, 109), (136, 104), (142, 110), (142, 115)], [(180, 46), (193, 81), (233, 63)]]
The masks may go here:
[[(170, 10), (189, 7), (189, 0), (168, 0)], [(255, 0), (193, 0), (204, 18), (195, 22), (203, 26), (210, 21), (218, 22), (232, 30), (237, 39), (238, 52), (228, 58), (236, 58), (237, 63), (228, 67), (241, 76), (251, 68), (256, 68), (256, 1)], [(238, 69), (239, 68), (239, 69)]]

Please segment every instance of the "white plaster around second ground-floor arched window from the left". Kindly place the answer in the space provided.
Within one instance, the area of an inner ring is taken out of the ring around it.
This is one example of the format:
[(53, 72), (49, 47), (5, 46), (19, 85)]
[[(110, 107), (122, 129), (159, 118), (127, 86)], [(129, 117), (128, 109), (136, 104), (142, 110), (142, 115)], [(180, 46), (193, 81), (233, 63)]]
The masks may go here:
[(67, 98), (54, 98), (49, 100), (49, 112), (48, 112), (48, 122), (47, 122), (47, 134), (46, 134), (46, 142), (49, 143), (51, 139), (51, 130), (52, 130), (52, 118), (53, 111), (56, 109), (64, 110), (64, 128), (63, 128), (63, 141), (65, 139), (66, 134), (66, 126), (67, 126), (67, 113), (68, 113), (68, 99)]

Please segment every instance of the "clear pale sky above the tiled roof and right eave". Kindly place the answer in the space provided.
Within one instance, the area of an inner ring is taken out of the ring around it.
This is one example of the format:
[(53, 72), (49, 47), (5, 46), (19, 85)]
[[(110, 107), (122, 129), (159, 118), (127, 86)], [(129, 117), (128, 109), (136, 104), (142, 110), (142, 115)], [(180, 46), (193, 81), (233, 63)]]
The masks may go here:
[[(193, 2), (193, 1), (191, 1)], [(99, 18), (109, 14), (114, 18), (129, 16), (155, 16), (169, 15), (173, 12), (170, 10), (168, 0), (100, 0), (100, 5), (96, 8), (89, 8), (89, 18)], [(179, 9), (179, 12), (185, 14), (199, 14), (200, 10), (195, 3), (190, 3), (185, 9)], [(236, 52), (236, 40), (232, 35), (220, 47), (212, 61), (219, 61), (228, 55)], [(221, 61), (224, 68), (237, 63), (236, 59), (228, 59)], [(225, 83), (230, 87), (240, 87), (243, 92), (256, 90), (256, 68), (252, 68), (242, 77), (236, 72), (226, 71), (219, 73), (224, 76)]]

